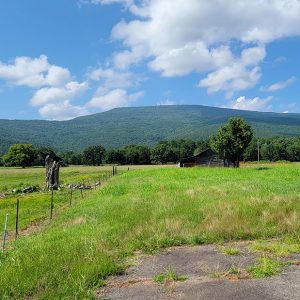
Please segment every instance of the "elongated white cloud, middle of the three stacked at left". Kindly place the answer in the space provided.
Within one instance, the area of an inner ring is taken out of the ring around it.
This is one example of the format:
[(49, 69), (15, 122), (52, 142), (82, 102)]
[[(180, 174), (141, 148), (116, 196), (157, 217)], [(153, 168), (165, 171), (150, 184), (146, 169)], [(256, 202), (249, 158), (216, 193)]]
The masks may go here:
[(31, 98), (31, 104), (41, 106), (48, 103), (58, 103), (70, 100), (87, 90), (87, 82), (78, 83), (76, 81), (68, 82), (63, 87), (45, 87), (39, 89)]

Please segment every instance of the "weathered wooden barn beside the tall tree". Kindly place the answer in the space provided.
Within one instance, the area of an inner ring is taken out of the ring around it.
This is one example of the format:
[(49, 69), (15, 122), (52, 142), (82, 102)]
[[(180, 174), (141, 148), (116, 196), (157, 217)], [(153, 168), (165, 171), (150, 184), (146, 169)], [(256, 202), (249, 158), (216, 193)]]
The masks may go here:
[(211, 149), (207, 149), (195, 156), (183, 158), (179, 161), (178, 166), (180, 168), (191, 168), (191, 167), (230, 167), (231, 162), (224, 160), (218, 154), (213, 152)]

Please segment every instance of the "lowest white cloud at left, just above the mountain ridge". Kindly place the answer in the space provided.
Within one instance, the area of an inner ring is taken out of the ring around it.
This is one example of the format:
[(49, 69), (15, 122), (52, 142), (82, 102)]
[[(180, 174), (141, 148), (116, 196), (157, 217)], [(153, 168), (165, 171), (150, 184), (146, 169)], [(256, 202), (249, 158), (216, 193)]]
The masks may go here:
[(41, 116), (48, 120), (69, 120), (75, 117), (84, 116), (89, 111), (82, 106), (74, 106), (69, 100), (62, 103), (49, 103), (39, 109)]

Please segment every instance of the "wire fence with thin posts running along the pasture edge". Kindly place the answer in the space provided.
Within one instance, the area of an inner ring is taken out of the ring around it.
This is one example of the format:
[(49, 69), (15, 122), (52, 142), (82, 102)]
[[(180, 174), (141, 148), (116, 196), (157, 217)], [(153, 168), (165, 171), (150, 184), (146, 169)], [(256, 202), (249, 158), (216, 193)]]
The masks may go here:
[(6, 207), (4, 229), (2, 236), (2, 253), (5, 254), (8, 241), (18, 236), (29, 234), (45, 220), (51, 221), (55, 214), (82, 201), (92, 190), (100, 188), (111, 177), (120, 175), (127, 170), (118, 170), (113, 166), (109, 171), (99, 172), (99, 176), (87, 178), (81, 182), (64, 183), (58, 190), (50, 189), (45, 192), (34, 192), (26, 199), (17, 197)]

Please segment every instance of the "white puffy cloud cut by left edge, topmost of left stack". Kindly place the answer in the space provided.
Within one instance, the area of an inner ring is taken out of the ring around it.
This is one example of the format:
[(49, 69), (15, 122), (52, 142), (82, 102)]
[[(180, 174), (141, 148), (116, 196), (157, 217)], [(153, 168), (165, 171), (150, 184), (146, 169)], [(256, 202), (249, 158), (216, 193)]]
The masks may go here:
[(38, 88), (41, 86), (61, 86), (71, 80), (68, 69), (50, 65), (48, 58), (16, 57), (10, 64), (0, 62), (0, 79), (18, 86)]

